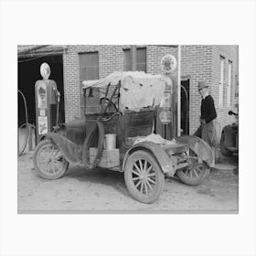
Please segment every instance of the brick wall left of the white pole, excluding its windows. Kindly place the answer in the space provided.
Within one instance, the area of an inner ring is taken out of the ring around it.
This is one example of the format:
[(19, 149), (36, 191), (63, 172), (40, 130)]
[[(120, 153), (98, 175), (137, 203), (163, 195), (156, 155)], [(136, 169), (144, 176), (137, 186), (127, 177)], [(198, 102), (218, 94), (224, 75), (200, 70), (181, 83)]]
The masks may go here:
[[(145, 47), (145, 46), (138, 46)], [(65, 87), (65, 118), (66, 122), (80, 117), (81, 111), (81, 85), (79, 70), (79, 53), (99, 52), (100, 79), (108, 76), (113, 71), (123, 71), (123, 49), (129, 45), (72, 45), (63, 56), (63, 72)], [(146, 46), (146, 69), (148, 73), (161, 73), (160, 61), (166, 53), (172, 53), (174, 48)]]

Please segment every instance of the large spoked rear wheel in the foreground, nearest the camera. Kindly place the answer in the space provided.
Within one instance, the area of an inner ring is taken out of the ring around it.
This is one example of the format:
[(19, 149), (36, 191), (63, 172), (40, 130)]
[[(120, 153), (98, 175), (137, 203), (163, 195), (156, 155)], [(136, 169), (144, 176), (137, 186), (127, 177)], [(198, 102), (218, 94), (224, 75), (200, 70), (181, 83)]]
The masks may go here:
[(165, 187), (165, 176), (155, 157), (142, 150), (127, 159), (124, 180), (132, 197), (146, 204), (155, 202)]

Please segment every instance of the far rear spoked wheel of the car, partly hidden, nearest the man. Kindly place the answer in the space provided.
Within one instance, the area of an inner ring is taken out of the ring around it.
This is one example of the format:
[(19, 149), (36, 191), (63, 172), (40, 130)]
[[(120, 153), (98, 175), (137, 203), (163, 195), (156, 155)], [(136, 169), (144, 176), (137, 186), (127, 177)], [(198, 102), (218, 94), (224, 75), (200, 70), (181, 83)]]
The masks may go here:
[(187, 161), (189, 165), (186, 168), (177, 170), (176, 176), (187, 185), (197, 186), (209, 176), (208, 165), (205, 162), (198, 162), (197, 154), (191, 149), (187, 154)]

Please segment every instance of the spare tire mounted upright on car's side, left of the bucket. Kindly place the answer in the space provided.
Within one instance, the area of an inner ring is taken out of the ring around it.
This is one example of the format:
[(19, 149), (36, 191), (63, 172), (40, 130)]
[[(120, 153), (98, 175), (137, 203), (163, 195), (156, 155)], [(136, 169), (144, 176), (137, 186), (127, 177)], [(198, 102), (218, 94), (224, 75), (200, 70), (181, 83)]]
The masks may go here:
[[(91, 122), (91, 121), (88, 121), (88, 122)], [(96, 151), (96, 154), (95, 154), (95, 157), (94, 157), (92, 163), (90, 163), (89, 148), (90, 148), (91, 140), (94, 137), (96, 137), (97, 129), (98, 129), (97, 151)], [(101, 122), (93, 121), (93, 124), (91, 126), (91, 130), (89, 131), (88, 135), (86, 136), (86, 139), (85, 139), (84, 144), (82, 146), (82, 163), (86, 168), (92, 169), (96, 165), (99, 164), (99, 162), (101, 160), (102, 150), (103, 150), (103, 143), (104, 143), (104, 126)]]

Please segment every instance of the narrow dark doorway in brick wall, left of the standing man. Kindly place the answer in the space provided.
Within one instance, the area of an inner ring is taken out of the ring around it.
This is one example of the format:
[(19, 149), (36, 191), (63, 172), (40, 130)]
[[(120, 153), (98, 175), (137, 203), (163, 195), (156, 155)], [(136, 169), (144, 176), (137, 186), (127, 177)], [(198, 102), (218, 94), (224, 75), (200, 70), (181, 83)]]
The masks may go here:
[(189, 134), (189, 79), (181, 80), (181, 135)]

